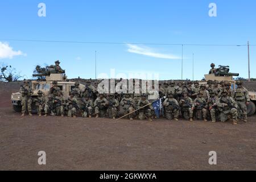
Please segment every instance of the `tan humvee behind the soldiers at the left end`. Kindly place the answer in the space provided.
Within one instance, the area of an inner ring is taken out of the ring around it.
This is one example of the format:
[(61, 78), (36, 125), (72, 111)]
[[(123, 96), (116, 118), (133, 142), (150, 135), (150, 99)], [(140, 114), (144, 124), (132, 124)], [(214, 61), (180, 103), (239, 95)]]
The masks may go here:
[[(46, 100), (48, 99), (49, 89), (53, 86), (52, 82), (57, 81), (57, 86), (59, 86), (61, 92), (63, 93), (64, 99), (67, 99), (69, 96), (69, 92), (75, 87), (75, 82), (67, 81), (67, 77), (64, 73), (51, 73), (50, 75), (46, 76), (45, 81), (37, 81), (34, 80), (31, 83), (31, 88), (33, 93), (32, 97), (32, 113), (36, 113), (36, 105), (35, 105), (35, 98), (38, 96), (38, 90), (41, 90), (46, 96)], [(79, 87), (84, 90), (85, 85), (80, 84)], [(13, 109), (16, 112), (20, 112), (22, 110), (21, 105), (21, 94), (19, 92), (11, 94), (11, 103), (13, 104)]]

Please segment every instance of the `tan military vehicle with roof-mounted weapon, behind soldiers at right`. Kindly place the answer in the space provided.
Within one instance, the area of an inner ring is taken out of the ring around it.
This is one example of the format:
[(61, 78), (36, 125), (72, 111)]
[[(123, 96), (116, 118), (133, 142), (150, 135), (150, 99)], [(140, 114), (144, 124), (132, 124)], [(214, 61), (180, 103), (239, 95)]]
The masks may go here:
[[(216, 73), (210, 75), (204, 75), (205, 81), (200, 82), (200, 84), (207, 84), (209, 80), (216, 81), (226, 81), (230, 82), (232, 90), (236, 90), (237, 85), (236, 81), (233, 80), (233, 76), (239, 76), (239, 73), (229, 73), (229, 66), (219, 65), (219, 68), (216, 69)], [(251, 116), (255, 114), (256, 110), (256, 92), (249, 91), (250, 104), (247, 105), (247, 115)]]

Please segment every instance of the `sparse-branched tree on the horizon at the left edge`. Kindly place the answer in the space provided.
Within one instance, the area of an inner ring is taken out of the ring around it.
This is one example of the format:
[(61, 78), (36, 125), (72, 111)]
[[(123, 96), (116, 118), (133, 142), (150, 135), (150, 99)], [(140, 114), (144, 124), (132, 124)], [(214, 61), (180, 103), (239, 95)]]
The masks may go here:
[(2, 65), (0, 67), (1, 73), (0, 73), (0, 80), (1, 81), (7, 81), (7, 82), (13, 82), (18, 81), (19, 78), (22, 78), (23, 76), (20, 76), (19, 73), (16, 73), (16, 69), (11, 67), (11, 65)]

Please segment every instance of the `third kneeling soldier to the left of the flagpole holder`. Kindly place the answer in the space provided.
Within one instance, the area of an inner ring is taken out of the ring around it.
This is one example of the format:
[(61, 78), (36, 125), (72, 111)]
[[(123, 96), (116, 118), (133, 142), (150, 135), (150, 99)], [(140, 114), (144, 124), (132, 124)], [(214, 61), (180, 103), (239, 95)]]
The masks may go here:
[(98, 118), (98, 114), (101, 115), (101, 117), (104, 117), (106, 110), (108, 109), (108, 100), (104, 97), (104, 94), (101, 93), (99, 97), (94, 101), (94, 107), (95, 107), (95, 114), (96, 117)]

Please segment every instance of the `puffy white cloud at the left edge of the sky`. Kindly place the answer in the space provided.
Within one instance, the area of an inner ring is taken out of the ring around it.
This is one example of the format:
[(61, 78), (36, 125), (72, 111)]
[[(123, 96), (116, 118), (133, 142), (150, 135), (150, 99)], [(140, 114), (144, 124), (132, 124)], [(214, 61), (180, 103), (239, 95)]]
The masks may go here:
[(0, 59), (12, 59), (13, 56), (26, 56), (22, 51), (14, 51), (12, 47), (9, 46), (8, 43), (0, 42)]

